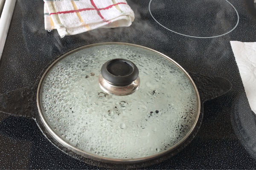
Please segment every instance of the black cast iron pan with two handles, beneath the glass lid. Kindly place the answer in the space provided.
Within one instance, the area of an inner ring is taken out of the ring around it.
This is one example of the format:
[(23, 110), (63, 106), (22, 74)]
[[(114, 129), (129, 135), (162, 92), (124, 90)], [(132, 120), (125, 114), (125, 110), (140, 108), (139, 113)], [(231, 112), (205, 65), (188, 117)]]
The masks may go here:
[[(56, 59), (58, 58), (59, 57), (57, 57)], [(28, 119), (35, 120), (35, 122), (37, 123), (38, 127), (40, 128), (44, 136), (52, 144), (58, 147), (61, 151), (63, 151), (64, 153), (68, 154), (69, 156), (75, 159), (78, 159), (87, 164), (91, 164), (99, 167), (107, 167), (107, 168), (114, 168), (114, 169), (140, 168), (140, 167), (157, 164), (159, 162), (162, 162), (162, 161), (165, 161), (166, 159), (171, 158), (172, 156), (180, 152), (184, 147), (186, 147), (198, 132), (198, 129), (203, 119), (203, 112), (204, 112), (203, 103), (207, 100), (214, 99), (218, 96), (221, 96), (227, 93), (228, 91), (230, 91), (231, 89), (231, 84), (227, 79), (224, 79), (222, 77), (205, 76), (202, 74), (190, 72), (189, 75), (195, 82), (195, 85), (200, 95), (201, 110), (200, 110), (198, 122), (194, 130), (192, 131), (192, 133), (190, 133), (189, 137), (183, 143), (175, 147), (175, 149), (171, 150), (171, 152), (163, 153), (161, 156), (155, 159), (152, 159), (150, 161), (145, 161), (145, 162), (140, 161), (132, 164), (123, 164), (123, 163), (120, 164), (118, 162), (109, 163), (109, 162), (97, 161), (97, 160), (93, 160), (93, 159), (81, 156), (69, 150), (68, 148), (64, 147), (62, 144), (57, 142), (49, 134), (47, 129), (44, 127), (43, 122), (41, 121), (41, 118), (38, 113), (37, 102), (36, 102), (38, 85), (44, 72), (56, 59), (52, 60), (52, 62), (50, 62), (41, 71), (41, 74), (38, 76), (38, 79), (36, 80), (34, 85), (9, 91), (5, 94), (0, 94), (0, 112), (7, 113), (11, 116), (20, 116), (20, 117), (25, 117)]]

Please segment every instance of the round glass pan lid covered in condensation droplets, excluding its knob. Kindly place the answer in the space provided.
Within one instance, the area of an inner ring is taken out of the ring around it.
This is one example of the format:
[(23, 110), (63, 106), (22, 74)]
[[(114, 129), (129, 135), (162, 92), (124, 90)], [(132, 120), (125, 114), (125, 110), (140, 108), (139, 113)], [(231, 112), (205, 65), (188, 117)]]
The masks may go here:
[[(137, 65), (140, 87), (116, 96), (99, 85), (110, 59)], [(42, 122), (61, 144), (97, 160), (152, 158), (174, 149), (200, 113), (195, 84), (165, 55), (139, 45), (99, 43), (70, 51), (45, 72), (38, 87)]]

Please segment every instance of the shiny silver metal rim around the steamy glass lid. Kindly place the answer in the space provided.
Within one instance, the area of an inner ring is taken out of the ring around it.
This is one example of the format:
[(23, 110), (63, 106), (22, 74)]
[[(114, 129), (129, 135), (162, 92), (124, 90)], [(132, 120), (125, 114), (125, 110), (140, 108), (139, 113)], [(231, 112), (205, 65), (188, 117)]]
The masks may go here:
[[(174, 63), (181, 71), (183, 71), (183, 73), (186, 75), (186, 77), (190, 80), (190, 82), (192, 83), (192, 86), (195, 90), (195, 95), (196, 98), (198, 99), (198, 113), (197, 113), (197, 117), (196, 120), (194, 122), (194, 125), (191, 127), (191, 129), (189, 130), (189, 132), (186, 134), (186, 136), (183, 137), (183, 139), (181, 139), (177, 144), (175, 144), (174, 146), (170, 147), (169, 149), (160, 152), (160, 153), (156, 153), (152, 156), (147, 156), (147, 157), (142, 157), (142, 158), (136, 158), (136, 159), (114, 159), (114, 158), (105, 158), (102, 156), (97, 156), (91, 153), (87, 153), (83, 150), (80, 150), (74, 146), (72, 146), (71, 144), (65, 142), (63, 139), (61, 139), (60, 136), (58, 136), (53, 130), (52, 128), (49, 126), (49, 124), (47, 123), (46, 118), (44, 117), (44, 114), (41, 111), (41, 106), (40, 106), (40, 97), (39, 97), (39, 92), (41, 89), (41, 85), (42, 82), (44, 80), (44, 77), (47, 75), (48, 71), (51, 70), (51, 68), (58, 63), (61, 59), (67, 57), (70, 54), (73, 54), (76, 51), (80, 51), (81, 49), (84, 48), (90, 48), (90, 47), (94, 47), (94, 46), (100, 46), (100, 45), (127, 45), (127, 46), (135, 46), (135, 47), (139, 47), (139, 48), (144, 48), (147, 49), (149, 51), (153, 51), (154, 53), (162, 56), (164, 59), (168, 59), (170, 62)], [(45, 128), (47, 129), (47, 131), (50, 133), (50, 135), (56, 139), (60, 144), (62, 144), (64, 147), (67, 147), (67, 149), (73, 151), (74, 153), (77, 153), (81, 156), (84, 156), (88, 159), (93, 159), (96, 161), (102, 161), (102, 162), (107, 162), (107, 163), (113, 163), (113, 164), (135, 164), (135, 163), (142, 163), (142, 162), (146, 162), (146, 161), (150, 161), (153, 159), (157, 159), (160, 158), (163, 155), (166, 155), (168, 153), (171, 153), (173, 150), (175, 150), (178, 146), (180, 146), (181, 144), (183, 144), (183, 142), (186, 141), (186, 139), (189, 137), (189, 135), (192, 133), (192, 131), (195, 129), (195, 126), (198, 122), (198, 118), (200, 115), (200, 108), (201, 108), (201, 102), (200, 102), (200, 96), (198, 93), (198, 89), (196, 88), (196, 85), (193, 81), (193, 79), (189, 76), (189, 74), (186, 72), (186, 70), (184, 68), (182, 68), (177, 62), (175, 62), (173, 59), (169, 58), (168, 56), (166, 56), (165, 54), (160, 53), (159, 51), (153, 50), (151, 48), (148, 47), (144, 47), (142, 45), (137, 45), (137, 44), (131, 44), (131, 43), (125, 43), (125, 42), (101, 42), (101, 43), (95, 43), (95, 44), (90, 44), (90, 45), (84, 45), (81, 46), (79, 48), (76, 48), (70, 52), (67, 52), (66, 54), (62, 55), (61, 57), (59, 57), (58, 59), (56, 59), (48, 68), (47, 70), (44, 72), (43, 76), (41, 77), (41, 80), (39, 82), (38, 85), (38, 91), (37, 91), (37, 107), (38, 107), (38, 113), (39, 113), (39, 117), (41, 118), (41, 121), (43, 123), (43, 125), (45, 126)]]

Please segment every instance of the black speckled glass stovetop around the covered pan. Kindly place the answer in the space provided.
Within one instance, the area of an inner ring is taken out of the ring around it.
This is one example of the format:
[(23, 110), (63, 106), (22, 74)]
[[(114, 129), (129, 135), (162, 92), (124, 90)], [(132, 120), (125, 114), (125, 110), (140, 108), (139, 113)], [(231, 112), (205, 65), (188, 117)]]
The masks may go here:
[[(44, 2), (17, 0), (0, 60), (0, 94), (33, 85), (54, 58), (96, 42), (143, 45), (186, 71), (228, 79), (232, 89), (204, 103), (198, 134), (176, 156), (145, 169), (256, 169), (256, 115), (250, 110), (230, 41), (256, 41), (253, 0), (128, 0), (130, 27), (60, 38), (44, 30)], [(157, 63), (156, 63), (157, 64)], [(71, 158), (34, 120), (0, 113), (0, 169), (101, 169)], [(143, 168), (144, 169), (144, 168)]]

